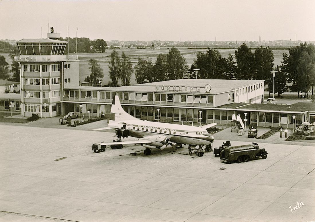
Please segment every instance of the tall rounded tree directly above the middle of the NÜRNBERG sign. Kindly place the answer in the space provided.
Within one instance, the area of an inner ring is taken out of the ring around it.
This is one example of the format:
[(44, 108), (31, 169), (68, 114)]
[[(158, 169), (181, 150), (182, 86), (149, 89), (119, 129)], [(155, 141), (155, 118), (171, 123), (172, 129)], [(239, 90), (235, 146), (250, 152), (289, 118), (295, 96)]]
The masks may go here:
[(182, 79), (186, 74), (188, 66), (186, 59), (180, 54), (177, 48), (171, 48), (166, 56), (167, 80)]

